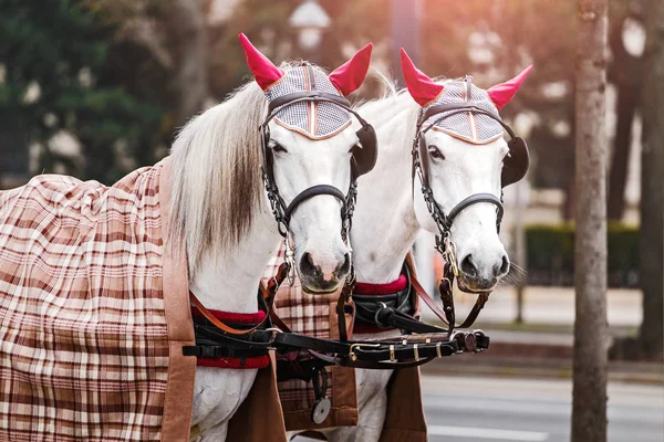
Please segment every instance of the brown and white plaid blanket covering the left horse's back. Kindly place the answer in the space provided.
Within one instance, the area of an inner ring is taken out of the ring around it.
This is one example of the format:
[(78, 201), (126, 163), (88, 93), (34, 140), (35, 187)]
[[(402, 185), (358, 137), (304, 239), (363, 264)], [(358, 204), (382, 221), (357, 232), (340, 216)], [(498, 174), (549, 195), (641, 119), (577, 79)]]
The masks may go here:
[(188, 438), (196, 360), (181, 356), (186, 262), (165, 256), (166, 162), (112, 187), (44, 175), (0, 192), (0, 440)]

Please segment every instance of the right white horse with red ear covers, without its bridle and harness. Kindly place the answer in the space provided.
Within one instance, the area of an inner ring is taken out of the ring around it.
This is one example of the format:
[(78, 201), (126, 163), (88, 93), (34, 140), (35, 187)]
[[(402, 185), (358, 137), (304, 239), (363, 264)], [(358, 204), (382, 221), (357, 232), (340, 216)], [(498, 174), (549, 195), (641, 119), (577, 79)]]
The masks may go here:
[[(381, 145), (375, 170), (359, 181), (359, 204), (353, 219), (353, 261), (357, 281), (363, 283), (395, 281), (419, 230), (438, 233), (426, 208), (419, 180), (415, 178), (413, 181), (411, 169), (413, 136), (422, 108), (436, 103), (461, 104), (465, 98), (458, 92), (471, 87), (475, 97), (469, 101), (483, 101), (486, 106), (490, 98), (495, 102), (492, 110), (497, 114), (498, 108), (511, 99), (525, 77), (521, 74), (516, 81), (494, 86), (487, 92), (457, 80), (436, 84), (417, 71), (405, 53), (402, 53), (402, 67), (413, 97), (397, 93), (388, 83), (392, 92), (387, 96), (359, 107), (374, 125)], [(460, 124), (465, 122), (469, 118), (464, 114)], [(454, 126), (459, 122), (452, 126), (436, 126), (437, 130), (425, 134), (429, 185), (446, 213), (474, 193), (500, 197), (502, 160), (508, 154), (502, 128), (491, 126), (488, 119), (475, 118), (474, 123), (480, 126), (479, 133), (484, 130), (488, 135), (483, 137), (470, 129), (465, 136), (464, 129), (468, 127)], [(488, 127), (481, 127), (483, 124)], [(509, 259), (498, 238), (496, 217), (494, 204), (476, 203), (464, 209), (452, 227), (450, 239), (456, 244), (456, 256), (460, 263), (459, 278), (467, 288), (490, 290), (509, 271)], [(354, 337), (400, 334), (392, 330), (374, 335), (355, 334)], [(330, 441), (371, 442), (377, 441), (381, 435), (392, 370), (357, 369), (355, 376), (357, 425), (324, 430)]]

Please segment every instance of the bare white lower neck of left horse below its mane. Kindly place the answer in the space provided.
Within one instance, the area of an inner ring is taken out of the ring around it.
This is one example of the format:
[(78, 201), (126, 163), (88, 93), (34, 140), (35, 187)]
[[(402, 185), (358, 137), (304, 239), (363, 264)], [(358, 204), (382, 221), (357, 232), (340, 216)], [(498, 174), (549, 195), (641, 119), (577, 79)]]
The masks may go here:
[(255, 313), (266, 265), (279, 245), (274, 219), (257, 210), (251, 229), (232, 250), (210, 252), (201, 260), (189, 290), (210, 309)]

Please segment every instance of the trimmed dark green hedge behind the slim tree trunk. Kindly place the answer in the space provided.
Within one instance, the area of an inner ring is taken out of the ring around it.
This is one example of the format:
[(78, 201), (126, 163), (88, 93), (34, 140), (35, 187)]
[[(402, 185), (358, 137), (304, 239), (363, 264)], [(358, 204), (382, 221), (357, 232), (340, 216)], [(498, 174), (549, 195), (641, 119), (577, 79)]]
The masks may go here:
[[(622, 223), (608, 224), (608, 272), (612, 287), (639, 286), (639, 229)], [(573, 285), (574, 225), (528, 225), (527, 278), (537, 285)]]

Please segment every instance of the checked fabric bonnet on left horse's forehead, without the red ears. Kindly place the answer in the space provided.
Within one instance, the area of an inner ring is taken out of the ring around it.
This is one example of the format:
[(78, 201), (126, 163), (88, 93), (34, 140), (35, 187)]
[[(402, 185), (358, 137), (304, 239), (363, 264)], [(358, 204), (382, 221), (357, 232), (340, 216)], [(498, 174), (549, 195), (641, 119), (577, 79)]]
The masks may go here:
[[(299, 66), (288, 71), (264, 91), (268, 101), (297, 92), (319, 91), (342, 96), (328, 75), (318, 67)], [(302, 102), (282, 106), (273, 119), (280, 126), (310, 139), (325, 139), (351, 125), (344, 108), (328, 102)]]

